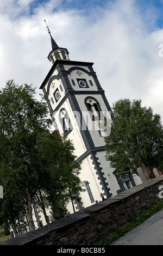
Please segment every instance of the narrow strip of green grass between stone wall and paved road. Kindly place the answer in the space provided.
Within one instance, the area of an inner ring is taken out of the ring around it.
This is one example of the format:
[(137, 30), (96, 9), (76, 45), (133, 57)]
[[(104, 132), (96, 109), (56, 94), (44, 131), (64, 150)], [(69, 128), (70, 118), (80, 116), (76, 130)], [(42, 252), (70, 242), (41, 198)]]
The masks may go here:
[(131, 222), (123, 227), (118, 227), (115, 229), (115, 235), (112, 237), (106, 237), (100, 243), (100, 245), (111, 245), (111, 243), (115, 242), (116, 240), (120, 239), (120, 237), (126, 235), (129, 231), (133, 228), (136, 228), (137, 225), (142, 224), (145, 222), (149, 217), (156, 214), (157, 212), (161, 211), (163, 208), (163, 200), (157, 202), (154, 206), (149, 208), (148, 210), (143, 211), (141, 214), (137, 216), (131, 217)]

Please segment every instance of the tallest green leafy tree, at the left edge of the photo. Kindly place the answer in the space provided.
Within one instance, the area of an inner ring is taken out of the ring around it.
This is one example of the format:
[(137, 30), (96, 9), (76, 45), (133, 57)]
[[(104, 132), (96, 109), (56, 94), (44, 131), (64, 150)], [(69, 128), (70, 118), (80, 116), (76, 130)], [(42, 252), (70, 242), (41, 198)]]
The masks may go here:
[(0, 92), (1, 180), (10, 182), (21, 199), (30, 230), (35, 229), (32, 198), (44, 175), (35, 161), (35, 142), (50, 124), (46, 103), (34, 95), (35, 88), (18, 86), (13, 80)]

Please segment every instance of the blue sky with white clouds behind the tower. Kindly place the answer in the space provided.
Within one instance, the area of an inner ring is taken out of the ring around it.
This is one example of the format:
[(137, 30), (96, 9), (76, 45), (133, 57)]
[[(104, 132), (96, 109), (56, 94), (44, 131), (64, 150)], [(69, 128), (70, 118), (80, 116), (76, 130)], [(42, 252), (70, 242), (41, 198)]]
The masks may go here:
[(10, 78), (39, 88), (51, 41), (71, 60), (93, 62), (112, 103), (141, 99), (163, 118), (163, 0), (7, 0), (0, 2), (1, 87)]

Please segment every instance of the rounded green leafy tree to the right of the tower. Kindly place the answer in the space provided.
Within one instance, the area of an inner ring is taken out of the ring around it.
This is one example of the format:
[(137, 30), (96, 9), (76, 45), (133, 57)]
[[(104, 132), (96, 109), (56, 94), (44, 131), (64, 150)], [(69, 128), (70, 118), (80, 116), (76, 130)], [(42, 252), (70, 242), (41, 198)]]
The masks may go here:
[(162, 164), (163, 129), (160, 115), (141, 100), (118, 100), (113, 108), (111, 133), (105, 137), (106, 160), (122, 178), (137, 173), (142, 167), (149, 177), (153, 168)]

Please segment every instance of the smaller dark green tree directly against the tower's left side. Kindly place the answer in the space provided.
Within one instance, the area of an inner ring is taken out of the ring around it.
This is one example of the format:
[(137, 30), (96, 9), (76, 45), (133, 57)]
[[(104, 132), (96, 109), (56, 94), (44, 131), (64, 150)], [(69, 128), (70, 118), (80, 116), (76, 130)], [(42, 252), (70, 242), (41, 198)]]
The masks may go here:
[(79, 200), (78, 193), (84, 191), (84, 182), (79, 179), (81, 163), (76, 162), (73, 143), (65, 136), (41, 135), (37, 147), (40, 166), (46, 170), (46, 177), (51, 177), (43, 181), (44, 202), (51, 206), (53, 220), (64, 217), (67, 203)]

